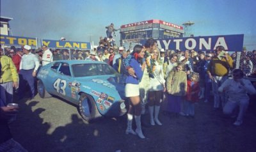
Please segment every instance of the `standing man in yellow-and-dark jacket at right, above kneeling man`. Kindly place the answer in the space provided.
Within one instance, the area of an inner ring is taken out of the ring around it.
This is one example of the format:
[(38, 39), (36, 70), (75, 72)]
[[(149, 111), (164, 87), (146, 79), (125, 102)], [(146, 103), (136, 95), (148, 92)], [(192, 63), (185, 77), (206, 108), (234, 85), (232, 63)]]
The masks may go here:
[(233, 59), (225, 53), (223, 46), (216, 47), (216, 56), (212, 57), (207, 68), (209, 78), (212, 80), (212, 91), (214, 93), (214, 108), (225, 106), (225, 94), (218, 92), (218, 88), (228, 78), (228, 72), (233, 68)]

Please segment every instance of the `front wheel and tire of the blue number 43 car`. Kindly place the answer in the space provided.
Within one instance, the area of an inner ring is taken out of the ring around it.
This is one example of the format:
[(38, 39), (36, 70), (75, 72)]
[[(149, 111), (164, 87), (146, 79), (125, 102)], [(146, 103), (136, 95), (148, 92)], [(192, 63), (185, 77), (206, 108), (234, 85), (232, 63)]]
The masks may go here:
[(88, 122), (100, 116), (99, 110), (97, 109), (97, 106), (92, 96), (86, 93), (81, 93), (78, 109), (81, 117)]

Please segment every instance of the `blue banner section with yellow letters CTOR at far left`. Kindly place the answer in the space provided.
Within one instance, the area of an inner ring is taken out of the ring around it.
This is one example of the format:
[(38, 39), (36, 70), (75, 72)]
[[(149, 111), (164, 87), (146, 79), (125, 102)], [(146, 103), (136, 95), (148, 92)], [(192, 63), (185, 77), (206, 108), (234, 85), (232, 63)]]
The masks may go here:
[(30, 45), (31, 47), (37, 47), (36, 38), (28, 38), (21, 36), (0, 35), (0, 43), (1, 45)]

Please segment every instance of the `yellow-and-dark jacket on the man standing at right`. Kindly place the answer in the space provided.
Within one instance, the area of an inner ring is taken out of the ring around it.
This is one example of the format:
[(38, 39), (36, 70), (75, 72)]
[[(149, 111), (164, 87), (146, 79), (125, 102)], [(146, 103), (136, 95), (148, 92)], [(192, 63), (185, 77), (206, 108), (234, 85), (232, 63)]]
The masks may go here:
[(228, 75), (230, 68), (233, 68), (233, 59), (230, 56), (228, 56), (227, 61), (224, 57), (219, 59), (217, 56), (214, 56), (209, 63), (207, 72), (211, 72), (212, 76), (223, 77)]

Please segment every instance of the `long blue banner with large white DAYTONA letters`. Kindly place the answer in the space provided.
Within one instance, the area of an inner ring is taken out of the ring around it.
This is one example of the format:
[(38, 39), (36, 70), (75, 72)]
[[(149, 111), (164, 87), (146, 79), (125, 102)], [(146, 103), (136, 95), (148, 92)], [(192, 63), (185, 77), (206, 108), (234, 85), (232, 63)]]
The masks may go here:
[[(145, 44), (146, 40), (141, 40)], [(227, 51), (242, 51), (244, 34), (220, 35), (220, 36), (196, 36), (186, 38), (157, 39), (157, 45), (165, 50), (215, 50), (222, 45)]]

